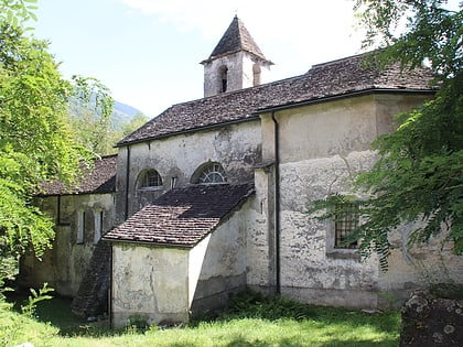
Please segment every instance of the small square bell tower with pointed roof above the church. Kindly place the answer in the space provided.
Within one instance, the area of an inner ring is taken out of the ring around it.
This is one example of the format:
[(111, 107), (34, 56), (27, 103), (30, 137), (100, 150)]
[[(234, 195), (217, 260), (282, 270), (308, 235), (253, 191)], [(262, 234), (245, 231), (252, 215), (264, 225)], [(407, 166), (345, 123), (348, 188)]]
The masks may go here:
[(204, 66), (204, 97), (266, 83), (272, 62), (260, 51), (237, 15)]

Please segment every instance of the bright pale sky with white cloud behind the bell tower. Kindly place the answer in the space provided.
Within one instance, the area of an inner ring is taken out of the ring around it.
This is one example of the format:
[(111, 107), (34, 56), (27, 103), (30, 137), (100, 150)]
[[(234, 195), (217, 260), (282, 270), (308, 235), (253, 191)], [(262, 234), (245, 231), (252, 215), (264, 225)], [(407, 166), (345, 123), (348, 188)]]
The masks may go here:
[(95, 77), (149, 117), (203, 97), (202, 61), (238, 15), (271, 80), (360, 53), (352, 0), (39, 0), (37, 39), (65, 78)]

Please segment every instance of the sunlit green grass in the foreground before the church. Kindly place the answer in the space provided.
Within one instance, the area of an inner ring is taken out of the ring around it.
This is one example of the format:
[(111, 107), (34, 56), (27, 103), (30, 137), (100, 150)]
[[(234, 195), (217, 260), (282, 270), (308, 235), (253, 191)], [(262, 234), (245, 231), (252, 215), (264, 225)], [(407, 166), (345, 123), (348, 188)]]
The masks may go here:
[[(45, 323), (47, 322), (47, 323)], [(41, 346), (398, 346), (398, 312), (365, 314), (355, 310), (303, 305), (286, 299), (236, 297), (215, 319), (184, 327), (111, 330), (107, 322), (87, 323), (72, 315), (69, 301), (41, 302), (34, 319), (0, 310), (1, 346), (29, 340)]]

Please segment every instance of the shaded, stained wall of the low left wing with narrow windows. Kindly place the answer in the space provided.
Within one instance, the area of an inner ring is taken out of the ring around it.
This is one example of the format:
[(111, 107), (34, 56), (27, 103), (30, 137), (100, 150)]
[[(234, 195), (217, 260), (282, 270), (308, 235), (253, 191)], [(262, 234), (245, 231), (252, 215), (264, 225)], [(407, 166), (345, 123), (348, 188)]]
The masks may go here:
[[(37, 204), (55, 220), (55, 240), (42, 261), (33, 254), (21, 259), (20, 284), (37, 288), (47, 282), (56, 293), (75, 296), (97, 241), (95, 232), (99, 214), (103, 214), (101, 234), (115, 226), (114, 194), (50, 196), (37, 198)], [(82, 212), (85, 223), (83, 240), (79, 241), (77, 214)]]

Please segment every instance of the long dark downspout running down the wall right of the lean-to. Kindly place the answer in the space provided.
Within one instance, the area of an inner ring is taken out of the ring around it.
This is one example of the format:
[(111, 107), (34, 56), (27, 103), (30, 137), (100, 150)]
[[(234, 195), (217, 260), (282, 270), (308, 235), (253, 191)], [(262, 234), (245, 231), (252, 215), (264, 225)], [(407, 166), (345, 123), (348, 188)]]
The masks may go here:
[(277, 295), (281, 294), (281, 259), (280, 259), (280, 237), (281, 237), (281, 218), (280, 218), (280, 124), (271, 112), (273, 121), (273, 150), (274, 150), (274, 285)]

